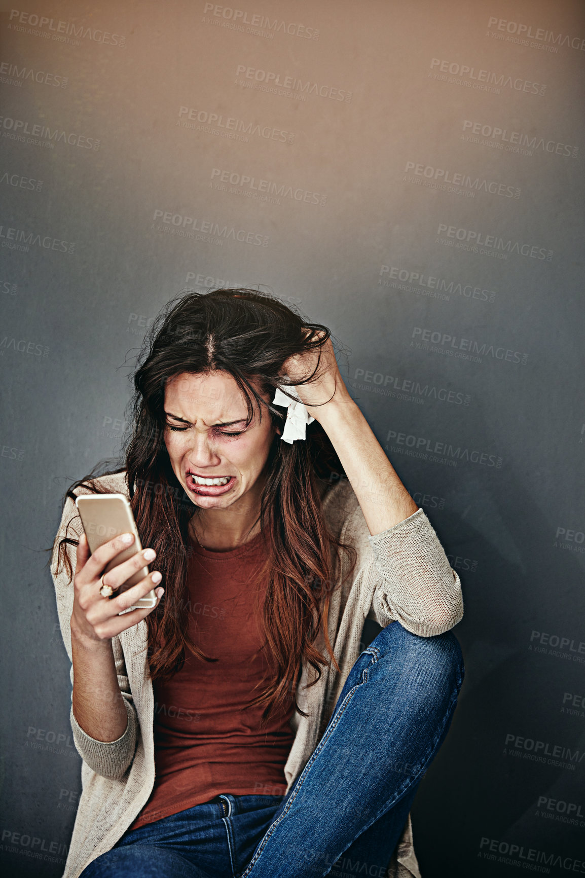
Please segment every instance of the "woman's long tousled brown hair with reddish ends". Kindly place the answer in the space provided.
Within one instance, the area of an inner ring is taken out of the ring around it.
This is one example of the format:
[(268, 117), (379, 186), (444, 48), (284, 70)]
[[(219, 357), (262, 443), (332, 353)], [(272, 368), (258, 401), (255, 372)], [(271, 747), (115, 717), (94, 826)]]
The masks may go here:
[[(324, 335), (311, 336), (307, 328), (323, 330)], [(186, 630), (188, 529), (200, 509), (178, 482), (164, 443), (167, 381), (184, 372), (225, 371), (247, 401), (248, 424), (254, 417), (254, 399), (260, 418), (264, 406), (272, 423), (282, 429), (285, 410), (267, 404), (260, 394), (273, 399), (277, 385), (285, 385), (279, 376), (285, 359), (318, 351), (329, 336), (328, 327), (307, 322), (275, 296), (243, 288), (184, 293), (162, 309), (146, 336), (134, 372), (134, 396), (123, 441), (125, 465), (116, 471), (127, 472), (141, 542), (155, 549), (156, 569), (162, 572), (165, 588), (162, 601), (146, 619), (152, 680), (168, 679), (180, 670), (187, 649), (198, 659), (217, 660), (199, 651)], [(304, 384), (313, 375), (295, 384)], [(94, 482), (95, 470), (71, 486), (66, 498), (75, 499), (79, 486), (101, 493), (103, 489)], [(327, 630), (330, 596), (341, 586), (336, 573), (339, 553), (350, 556), (349, 576), (356, 552), (329, 533), (320, 483), (322, 487), (324, 481), (334, 482), (343, 475), (336, 451), (318, 421), (307, 426), (305, 442), (289, 444), (275, 436), (259, 515), (266, 549), (259, 576), (267, 577), (262, 617), (271, 676), (251, 702), (264, 705), (264, 720), (274, 710), (286, 709), (292, 700), (300, 715), (307, 716), (296, 701), (295, 690), (302, 661), (316, 672), (310, 686), (320, 679), (320, 666), (329, 664), (314, 645), (321, 630), (329, 658), (339, 671)], [(70, 576), (73, 571), (65, 546), (77, 542), (65, 536), (59, 543), (60, 564), (63, 561)]]

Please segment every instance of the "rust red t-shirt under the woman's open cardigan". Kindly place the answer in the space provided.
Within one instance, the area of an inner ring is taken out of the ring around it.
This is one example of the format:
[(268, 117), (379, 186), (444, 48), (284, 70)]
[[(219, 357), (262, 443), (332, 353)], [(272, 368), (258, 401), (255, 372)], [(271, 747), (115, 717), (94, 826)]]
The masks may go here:
[(267, 583), (255, 576), (262, 534), (231, 551), (191, 550), (189, 633), (218, 661), (187, 651), (181, 671), (155, 681), (155, 786), (131, 830), (220, 793), (285, 795), (293, 704), (262, 729), (263, 708), (249, 707), (269, 667), (259, 627)]

